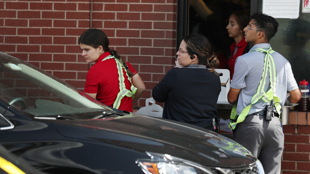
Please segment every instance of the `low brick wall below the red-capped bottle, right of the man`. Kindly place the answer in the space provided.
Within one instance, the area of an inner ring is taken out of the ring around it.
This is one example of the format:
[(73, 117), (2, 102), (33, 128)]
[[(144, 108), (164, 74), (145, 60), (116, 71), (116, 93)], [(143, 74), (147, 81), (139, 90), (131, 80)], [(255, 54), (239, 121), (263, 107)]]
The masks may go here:
[(283, 125), (282, 174), (310, 174), (310, 112), (290, 112)]

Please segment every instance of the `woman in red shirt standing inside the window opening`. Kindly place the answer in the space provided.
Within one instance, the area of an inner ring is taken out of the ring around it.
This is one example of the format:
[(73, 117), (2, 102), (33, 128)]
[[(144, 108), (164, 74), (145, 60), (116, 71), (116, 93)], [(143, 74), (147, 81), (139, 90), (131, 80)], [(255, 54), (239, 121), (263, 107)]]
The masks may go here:
[(246, 24), (250, 21), (250, 13), (247, 11), (234, 11), (230, 15), (228, 21), (226, 29), (229, 37), (234, 39), (227, 56), (227, 66), (230, 71), (230, 80), (232, 80), (237, 57), (250, 50), (249, 44), (245, 41), (243, 31), (243, 28), (245, 28)]

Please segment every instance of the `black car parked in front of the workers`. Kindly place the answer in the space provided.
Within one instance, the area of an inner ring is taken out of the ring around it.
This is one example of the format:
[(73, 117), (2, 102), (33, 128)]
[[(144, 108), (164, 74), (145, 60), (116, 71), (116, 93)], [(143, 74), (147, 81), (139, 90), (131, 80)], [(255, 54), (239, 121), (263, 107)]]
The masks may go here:
[(0, 52), (0, 144), (46, 173), (263, 173), (220, 134), (109, 108)]

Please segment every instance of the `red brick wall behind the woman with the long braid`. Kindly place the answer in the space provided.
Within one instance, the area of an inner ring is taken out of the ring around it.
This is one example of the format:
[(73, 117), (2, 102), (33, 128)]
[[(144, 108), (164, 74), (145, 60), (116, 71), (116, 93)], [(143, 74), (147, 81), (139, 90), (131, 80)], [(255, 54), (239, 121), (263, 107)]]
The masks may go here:
[(102, 29), (110, 48), (130, 62), (146, 91), (170, 70), (176, 53), (177, 0), (0, 0), (0, 51), (83, 90), (89, 64), (78, 37)]

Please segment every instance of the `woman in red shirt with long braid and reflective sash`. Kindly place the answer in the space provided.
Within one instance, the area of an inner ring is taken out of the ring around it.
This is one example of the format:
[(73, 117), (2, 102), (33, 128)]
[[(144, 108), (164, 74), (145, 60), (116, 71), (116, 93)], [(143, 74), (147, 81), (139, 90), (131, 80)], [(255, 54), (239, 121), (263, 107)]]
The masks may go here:
[(132, 112), (145, 90), (139, 74), (115, 50), (99, 29), (86, 30), (78, 44), (87, 63), (95, 62), (87, 73), (84, 92), (110, 107)]

